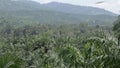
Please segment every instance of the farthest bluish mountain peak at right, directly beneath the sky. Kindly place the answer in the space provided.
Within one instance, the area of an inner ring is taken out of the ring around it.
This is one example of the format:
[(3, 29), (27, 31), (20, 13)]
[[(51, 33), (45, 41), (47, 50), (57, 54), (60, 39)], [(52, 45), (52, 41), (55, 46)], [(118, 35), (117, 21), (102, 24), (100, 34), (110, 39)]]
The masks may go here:
[(110, 11), (89, 7), (89, 6), (77, 6), (65, 3), (51, 2), (44, 4), (44, 6), (59, 12), (64, 13), (74, 13), (74, 14), (83, 14), (83, 15), (116, 15)]

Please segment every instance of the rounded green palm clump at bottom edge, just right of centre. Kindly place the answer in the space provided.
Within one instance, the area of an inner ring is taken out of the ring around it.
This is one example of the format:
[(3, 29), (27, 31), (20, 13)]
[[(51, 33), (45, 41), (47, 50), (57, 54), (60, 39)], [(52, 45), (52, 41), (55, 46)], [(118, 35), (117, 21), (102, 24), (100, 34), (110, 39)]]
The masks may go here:
[(73, 47), (70, 44), (65, 45), (59, 49), (58, 54), (59, 58), (63, 60), (63, 63), (67, 68), (82, 67), (81, 60), (83, 59), (80, 51), (76, 47)]

